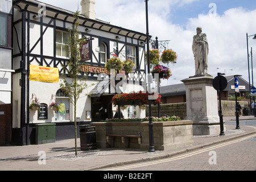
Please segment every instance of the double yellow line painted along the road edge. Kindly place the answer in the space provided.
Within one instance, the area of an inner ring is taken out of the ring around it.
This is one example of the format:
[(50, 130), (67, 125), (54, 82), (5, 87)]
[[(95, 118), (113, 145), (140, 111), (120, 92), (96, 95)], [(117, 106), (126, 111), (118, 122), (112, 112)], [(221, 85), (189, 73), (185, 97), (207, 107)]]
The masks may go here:
[(213, 149), (216, 149), (216, 148), (224, 147), (224, 146), (227, 146), (229, 144), (241, 142), (242, 140), (246, 140), (246, 139), (253, 138), (253, 137), (256, 137), (256, 134), (250, 135), (250, 136), (247, 136), (247, 137), (243, 137), (243, 138), (240, 138), (240, 139), (232, 140), (230, 142), (225, 142), (225, 143), (222, 143), (222, 144), (217, 144), (216, 146), (208, 147), (208, 148), (205, 148), (205, 149), (202, 149), (202, 150), (199, 150), (199, 151), (189, 152), (189, 154), (184, 154), (184, 155), (176, 156), (174, 158), (157, 160), (155, 162), (153, 161), (153, 162), (147, 162), (147, 163), (141, 163), (141, 164), (134, 164), (134, 165), (124, 166), (124, 167), (105, 169), (105, 170), (102, 170), (102, 171), (120, 171), (120, 170), (123, 170), (123, 169), (130, 169), (130, 168), (135, 168), (135, 167), (143, 167), (143, 166), (150, 166), (150, 165), (159, 164), (159, 163), (171, 162), (173, 160), (179, 160), (179, 159), (183, 159), (183, 158), (188, 158), (189, 156), (197, 155), (197, 154), (200, 154), (202, 152), (206, 152), (206, 151), (210, 151), (210, 150), (213, 150)]

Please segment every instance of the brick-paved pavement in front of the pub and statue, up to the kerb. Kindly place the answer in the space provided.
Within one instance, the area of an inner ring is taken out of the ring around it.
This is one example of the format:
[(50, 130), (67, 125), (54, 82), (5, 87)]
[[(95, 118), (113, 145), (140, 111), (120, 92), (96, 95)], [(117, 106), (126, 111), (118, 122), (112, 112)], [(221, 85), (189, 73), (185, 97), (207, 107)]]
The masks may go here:
[[(254, 117), (240, 117), (240, 119), (254, 119)], [(229, 120), (235, 119), (234, 117), (224, 118), (224, 121)], [(77, 140), (79, 146), (78, 156), (75, 156), (74, 139), (29, 146), (1, 146), (0, 170), (77, 171), (101, 169), (103, 167), (168, 158), (187, 151), (193, 151), (198, 148), (256, 133), (256, 128), (250, 126), (241, 126), (240, 130), (236, 130), (234, 126), (226, 125), (226, 129), (225, 136), (197, 136), (194, 137), (195, 144), (176, 148), (171, 151), (147, 152), (130, 148), (107, 148), (104, 150), (80, 151), (79, 139)], [(39, 151), (45, 152), (46, 164), (39, 164), (40, 162), (42, 163), (41, 160), (38, 160), (40, 157), (42, 158), (42, 155), (38, 155)]]

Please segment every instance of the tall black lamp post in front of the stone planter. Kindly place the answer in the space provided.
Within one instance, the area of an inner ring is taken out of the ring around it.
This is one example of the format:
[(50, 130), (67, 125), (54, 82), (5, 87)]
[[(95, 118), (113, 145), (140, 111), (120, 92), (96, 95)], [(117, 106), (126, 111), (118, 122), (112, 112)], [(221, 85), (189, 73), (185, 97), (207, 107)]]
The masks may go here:
[[(148, 32), (148, 0), (145, 0), (146, 2), (146, 35), (147, 35), (147, 73), (150, 75), (150, 49), (149, 49), (149, 32)], [(154, 123), (152, 122), (152, 111), (151, 111), (151, 100), (148, 100), (148, 111), (149, 111), (149, 121), (148, 121), (148, 133), (149, 133), (149, 152), (154, 152), (154, 130), (153, 126)]]

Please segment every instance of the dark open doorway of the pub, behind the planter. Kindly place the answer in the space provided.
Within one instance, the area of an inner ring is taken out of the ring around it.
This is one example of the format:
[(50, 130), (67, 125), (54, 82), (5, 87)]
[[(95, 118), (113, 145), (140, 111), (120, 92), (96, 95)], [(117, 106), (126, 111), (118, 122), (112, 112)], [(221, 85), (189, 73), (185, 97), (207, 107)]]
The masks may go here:
[(105, 121), (113, 118), (112, 98), (114, 94), (102, 94), (92, 97), (92, 122)]

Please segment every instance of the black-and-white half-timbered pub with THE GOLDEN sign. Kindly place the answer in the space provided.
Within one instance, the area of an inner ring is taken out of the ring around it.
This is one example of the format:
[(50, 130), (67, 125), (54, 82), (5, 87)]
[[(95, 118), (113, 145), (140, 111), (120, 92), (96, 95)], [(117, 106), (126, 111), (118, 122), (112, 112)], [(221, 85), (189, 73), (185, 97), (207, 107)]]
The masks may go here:
[[(104, 86), (110, 78), (104, 66), (113, 53), (121, 60), (134, 61), (135, 71), (127, 77), (129, 92), (145, 90), (142, 85), (146, 82), (146, 34), (96, 19), (94, 3), (81, 1), (78, 20), (81, 37), (88, 39), (81, 72), (88, 76), (86, 83), (90, 86), (77, 102), (77, 129), (86, 123), (112, 118), (117, 110), (111, 102), (115, 93)], [(60, 89), (65, 73), (62, 65), (69, 61), (65, 42), (68, 28), (75, 20), (73, 14), (39, 1), (13, 1), (13, 144), (34, 144), (39, 123), (55, 123), (56, 140), (75, 137), (73, 105)], [(35, 99), (40, 109), (32, 110), (30, 105)], [(52, 102), (59, 104), (60, 109), (53, 110)], [(125, 118), (146, 115), (138, 106), (128, 106), (122, 113)]]

